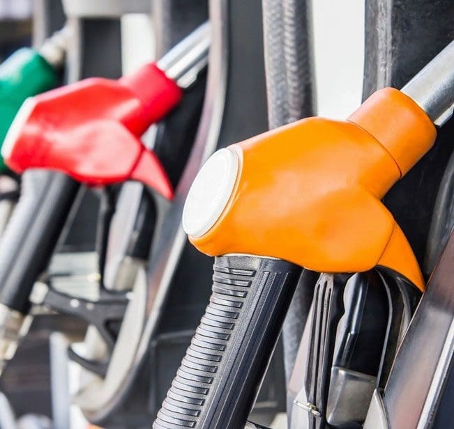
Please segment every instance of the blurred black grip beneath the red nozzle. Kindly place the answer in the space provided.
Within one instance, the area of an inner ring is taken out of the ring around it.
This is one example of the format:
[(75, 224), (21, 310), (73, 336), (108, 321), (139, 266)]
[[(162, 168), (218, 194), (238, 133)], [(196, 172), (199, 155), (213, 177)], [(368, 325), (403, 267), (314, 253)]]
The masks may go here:
[(0, 238), (0, 302), (27, 313), (80, 185), (62, 173), (29, 170), (19, 202)]

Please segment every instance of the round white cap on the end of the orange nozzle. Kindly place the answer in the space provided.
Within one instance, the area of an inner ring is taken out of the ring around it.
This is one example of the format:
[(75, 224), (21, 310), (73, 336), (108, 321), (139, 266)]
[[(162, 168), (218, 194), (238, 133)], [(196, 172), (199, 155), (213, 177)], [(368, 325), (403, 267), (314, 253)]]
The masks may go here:
[(238, 155), (233, 150), (213, 153), (195, 177), (183, 208), (183, 229), (201, 237), (219, 219), (234, 189), (239, 171)]

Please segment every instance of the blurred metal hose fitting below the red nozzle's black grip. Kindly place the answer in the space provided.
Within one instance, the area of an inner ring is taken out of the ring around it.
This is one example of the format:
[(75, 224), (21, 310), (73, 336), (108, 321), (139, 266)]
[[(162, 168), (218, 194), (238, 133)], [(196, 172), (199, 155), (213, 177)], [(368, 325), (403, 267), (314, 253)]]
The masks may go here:
[(13, 359), (20, 340), (27, 334), (31, 316), (0, 304), (0, 374)]

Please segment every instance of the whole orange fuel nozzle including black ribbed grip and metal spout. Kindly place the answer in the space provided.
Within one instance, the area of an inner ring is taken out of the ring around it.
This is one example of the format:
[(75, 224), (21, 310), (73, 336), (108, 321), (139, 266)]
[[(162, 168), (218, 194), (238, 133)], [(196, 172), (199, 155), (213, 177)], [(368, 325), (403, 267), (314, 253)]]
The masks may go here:
[[(430, 70), (441, 63), (452, 67), (454, 45), (447, 49), (414, 82), (437, 81)], [(434, 121), (452, 105), (448, 76), (443, 87), (450, 94), (437, 101), (384, 88), (347, 121), (300, 120), (218, 150), (204, 164), (188, 193), (183, 228), (199, 251), (215, 256), (213, 292), (153, 428), (245, 425), (303, 269), (344, 279), (380, 266), (423, 290), (414, 253), (381, 198), (434, 144)], [(416, 84), (406, 88), (410, 93)], [(326, 318), (320, 320), (323, 327)], [(317, 333), (314, 347), (333, 347), (319, 344), (329, 338)], [(306, 412), (318, 422), (326, 417), (314, 404)]]

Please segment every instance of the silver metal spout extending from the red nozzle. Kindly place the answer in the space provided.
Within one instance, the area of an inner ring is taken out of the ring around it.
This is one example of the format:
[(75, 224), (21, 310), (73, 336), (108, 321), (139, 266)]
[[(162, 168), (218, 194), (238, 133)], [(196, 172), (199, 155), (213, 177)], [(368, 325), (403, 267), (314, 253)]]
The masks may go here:
[(211, 26), (206, 22), (162, 56), (157, 65), (180, 88), (188, 88), (208, 63), (210, 45)]

